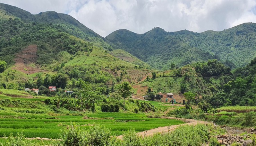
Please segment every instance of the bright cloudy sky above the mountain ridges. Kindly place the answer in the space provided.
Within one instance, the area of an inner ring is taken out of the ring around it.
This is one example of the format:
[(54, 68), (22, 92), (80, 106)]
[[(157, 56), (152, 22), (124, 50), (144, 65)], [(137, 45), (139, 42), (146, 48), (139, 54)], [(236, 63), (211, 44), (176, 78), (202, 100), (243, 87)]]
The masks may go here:
[(145, 33), (221, 31), (256, 22), (256, 0), (0, 0), (33, 14), (56, 11), (76, 18), (105, 37), (118, 29)]

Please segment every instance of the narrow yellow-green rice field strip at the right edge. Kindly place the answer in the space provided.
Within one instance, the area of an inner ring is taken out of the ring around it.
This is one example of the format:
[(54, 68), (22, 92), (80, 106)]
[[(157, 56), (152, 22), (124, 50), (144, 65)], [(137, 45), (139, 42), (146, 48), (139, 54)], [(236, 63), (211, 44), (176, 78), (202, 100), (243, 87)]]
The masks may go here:
[(234, 106), (234, 107), (221, 107), (217, 108), (218, 112), (221, 111), (227, 111), (227, 112), (236, 112), (236, 113), (244, 113), (244, 112), (250, 112), (250, 111), (255, 111), (256, 112), (256, 107), (246, 107), (246, 106)]

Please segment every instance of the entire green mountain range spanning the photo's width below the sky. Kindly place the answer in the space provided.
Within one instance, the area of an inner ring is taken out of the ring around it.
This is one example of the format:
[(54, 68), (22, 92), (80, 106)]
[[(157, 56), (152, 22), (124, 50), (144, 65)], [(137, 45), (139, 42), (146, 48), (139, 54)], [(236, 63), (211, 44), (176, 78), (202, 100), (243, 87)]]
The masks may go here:
[(240, 104), (233, 95), (254, 99), (256, 94), (255, 37), (256, 24), (245, 23), (203, 33), (153, 28), (136, 34), (122, 29), (103, 38), (69, 15), (33, 15), (0, 3), (0, 65), (7, 63), (0, 88), (79, 91), (90, 86), (99, 95), (109, 95), (116, 84), (129, 81), (136, 97), (152, 89), (184, 99), (180, 94), (192, 91), (213, 105), (226, 99)]

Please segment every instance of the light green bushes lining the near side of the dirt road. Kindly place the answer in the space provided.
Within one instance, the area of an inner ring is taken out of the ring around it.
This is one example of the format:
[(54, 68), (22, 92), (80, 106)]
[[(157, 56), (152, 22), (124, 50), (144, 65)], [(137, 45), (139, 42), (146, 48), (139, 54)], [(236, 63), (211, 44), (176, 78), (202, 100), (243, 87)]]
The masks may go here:
[(174, 131), (166, 134), (154, 134), (142, 138), (137, 136), (135, 130), (129, 130), (123, 135), (122, 145), (124, 146), (201, 146), (210, 139), (209, 127), (205, 125), (180, 126)]

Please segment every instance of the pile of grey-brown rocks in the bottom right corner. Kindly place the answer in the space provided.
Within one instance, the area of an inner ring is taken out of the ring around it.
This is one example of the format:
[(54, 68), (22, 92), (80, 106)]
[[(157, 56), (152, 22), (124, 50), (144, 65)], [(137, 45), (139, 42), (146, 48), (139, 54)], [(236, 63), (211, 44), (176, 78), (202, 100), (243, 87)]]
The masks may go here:
[[(218, 142), (222, 145), (229, 146), (232, 143), (240, 144), (241, 146), (247, 146), (253, 143), (253, 140), (248, 139), (250, 136), (230, 136), (230, 135), (219, 135), (217, 136)], [(248, 139), (248, 140), (245, 140)]]

